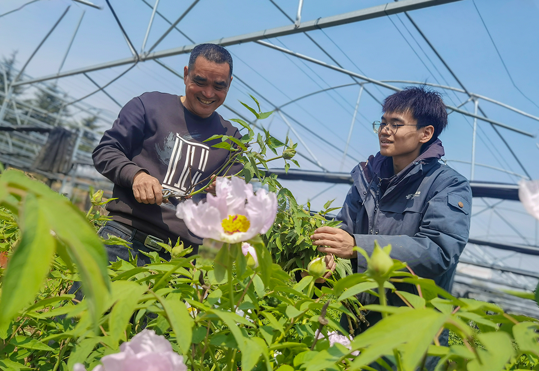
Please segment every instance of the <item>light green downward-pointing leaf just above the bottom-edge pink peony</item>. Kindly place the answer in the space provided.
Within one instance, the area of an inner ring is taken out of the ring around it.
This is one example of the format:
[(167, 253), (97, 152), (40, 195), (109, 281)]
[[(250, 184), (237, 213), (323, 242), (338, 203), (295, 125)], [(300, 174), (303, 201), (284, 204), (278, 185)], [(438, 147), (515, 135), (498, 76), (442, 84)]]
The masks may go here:
[(116, 303), (108, 317), (108, 334), (112, 338), (110, 344), (114, 347), (123, 337), (123, 332), (129, 324), (129, 319), (133, 315), (137, 303), (142, 294), (146, 292), (146, 287), (132, 281), (115, 281), (111, 286), (112, 297)]

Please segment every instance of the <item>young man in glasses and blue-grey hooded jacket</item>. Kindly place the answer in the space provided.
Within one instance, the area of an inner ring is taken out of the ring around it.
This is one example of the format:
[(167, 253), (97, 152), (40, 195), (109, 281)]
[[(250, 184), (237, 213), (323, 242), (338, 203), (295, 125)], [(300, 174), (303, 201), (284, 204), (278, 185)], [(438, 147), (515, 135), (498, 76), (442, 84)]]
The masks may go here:
[[(409, 87), (385, 98), (382, 111), (381, 121), (372, 124), (380, 152), (352, 170), (354, 185), (337, 216), (341, 229), (317, 229), (313, 245), (351, 258), (357, 272), (364, 272), (367, 262), (353, 247), (370, 255), (375, 240), (391, 244), (391, 258), (450, 291), (468, 240), (472, 190), (464, 176), (439, 162), (444, 147), (438, 135), (447, 125), (444, 102), (438, 92)], [(397, 289), (417, 294), (412, 285)], [(362, 304), (377, 300), (368, 294), (359, 299)], [(403, 305), (396, 295), (388, 302)], [(379, 319), (379, 313), (367, 315), (370, 325)], [(365, 329), (362, 324), (356, 334)]]

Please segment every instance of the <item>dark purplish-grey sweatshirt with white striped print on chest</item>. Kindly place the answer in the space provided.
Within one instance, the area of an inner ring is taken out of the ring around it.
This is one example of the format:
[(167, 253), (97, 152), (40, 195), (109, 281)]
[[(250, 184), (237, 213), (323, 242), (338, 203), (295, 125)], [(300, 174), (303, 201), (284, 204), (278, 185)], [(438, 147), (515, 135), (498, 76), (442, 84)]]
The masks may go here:
[[(183, 220), (176, 218), (176, 207), (170, 202), (137, 202), (133, 177), (143, 170), (157, 178), (163, 188), (188, 191), (192, 184), (217, 174), (230, 158), (227, 149), (211, 147), (220, 139), (204, 142), (214, 134), (241, 138), (238, 129), (217, 112), (208, 118), (193, 115), (177, 95), (154, 91), (131, 99), (92, 155), (95, 168), (114, 183), (113, 197), (118, 199), (107, 204), (110, 217), (165, 241), (174, 243), (181, 237), (201, 244), (202, 240), (187, 229)], [(227, 166), (226, 174), (239, 170), (240, 164)]]

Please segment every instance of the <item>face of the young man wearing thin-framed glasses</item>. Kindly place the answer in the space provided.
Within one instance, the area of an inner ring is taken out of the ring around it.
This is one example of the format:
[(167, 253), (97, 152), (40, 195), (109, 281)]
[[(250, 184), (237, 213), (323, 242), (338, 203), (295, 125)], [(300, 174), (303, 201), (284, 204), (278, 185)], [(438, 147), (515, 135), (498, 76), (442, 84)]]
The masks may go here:
[(385, 112), (382, 123), (390, 122), (397, 124), (397, 132), (389, 134), (386, 128), (391, 125), (386, 125), (378, 133), (380, 153), (392, 157), (393, 164), (400, 164), (404, 168), (419, 156), (421, 145), (429, 141), (430, 137), (425, 140), (424, 128), (417, 129), (417, 120), (409, 111)]

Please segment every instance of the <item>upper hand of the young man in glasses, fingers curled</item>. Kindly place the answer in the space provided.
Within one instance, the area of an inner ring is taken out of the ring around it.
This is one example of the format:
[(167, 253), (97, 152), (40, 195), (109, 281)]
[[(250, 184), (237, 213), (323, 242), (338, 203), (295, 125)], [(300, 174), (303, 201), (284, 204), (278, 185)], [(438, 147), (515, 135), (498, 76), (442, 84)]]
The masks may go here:
[(355, 258), (357, 252), (353, 251), (356, 246), (354, 237), (348, 232), (334, 227), (320, 227), (316, 229), (310, 239), (313, 245), (320, 246), (318, 251), (327, 254), (334, 254), (338, 258)]

